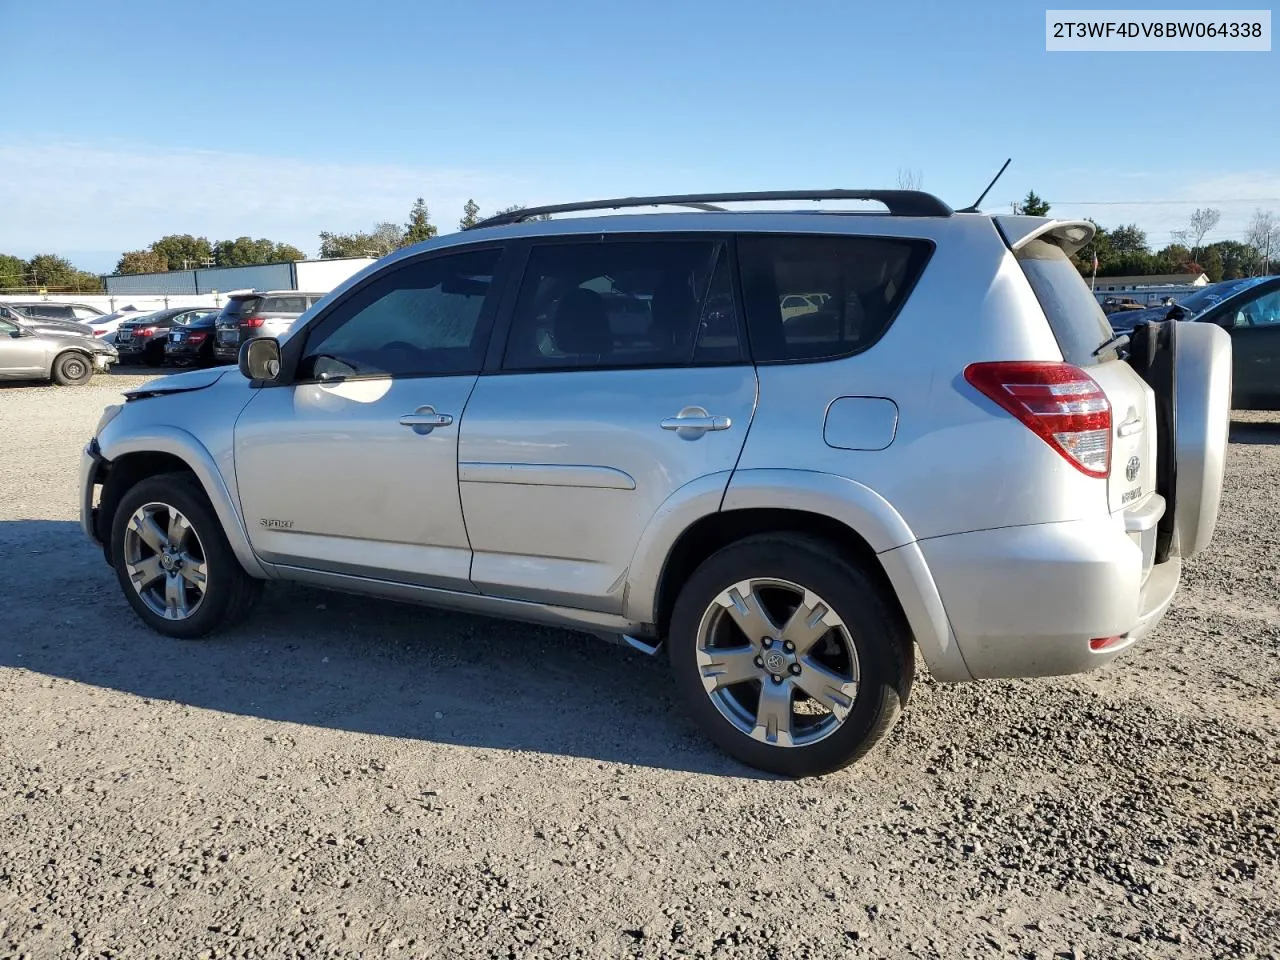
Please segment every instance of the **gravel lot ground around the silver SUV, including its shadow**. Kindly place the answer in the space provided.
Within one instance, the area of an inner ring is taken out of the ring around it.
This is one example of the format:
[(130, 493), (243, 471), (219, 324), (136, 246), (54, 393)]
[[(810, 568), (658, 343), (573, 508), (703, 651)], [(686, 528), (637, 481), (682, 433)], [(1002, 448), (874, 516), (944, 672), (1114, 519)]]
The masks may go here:
[(576, 634), (289, 586), (143, 630), (76, 522), (141, 379), (0, 389), (0, 956), (1280, 955), (1280, 415), (1139, 650), (923, 677), (787, 782)]

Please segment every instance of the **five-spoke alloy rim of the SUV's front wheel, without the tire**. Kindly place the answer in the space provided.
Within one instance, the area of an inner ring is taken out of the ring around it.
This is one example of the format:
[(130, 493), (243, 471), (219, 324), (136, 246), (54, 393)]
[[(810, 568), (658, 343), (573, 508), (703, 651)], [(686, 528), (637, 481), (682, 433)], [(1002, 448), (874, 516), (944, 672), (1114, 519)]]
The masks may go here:
[(124, 530), (129, 582), (147, 609), (165, 620), (187, 620), (205, 602), (205, 548), (191, 521), (166, 503), (145, 503)]

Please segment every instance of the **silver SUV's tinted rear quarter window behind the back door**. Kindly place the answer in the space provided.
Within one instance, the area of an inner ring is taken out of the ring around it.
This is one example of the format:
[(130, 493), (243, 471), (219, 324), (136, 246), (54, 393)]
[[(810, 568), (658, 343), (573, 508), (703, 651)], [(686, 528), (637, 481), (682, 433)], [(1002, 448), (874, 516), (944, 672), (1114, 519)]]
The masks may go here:
[(758, 362), (827, 360), (878, 340), (933, 252), (891, 237), (739, 238), (751, 352)]

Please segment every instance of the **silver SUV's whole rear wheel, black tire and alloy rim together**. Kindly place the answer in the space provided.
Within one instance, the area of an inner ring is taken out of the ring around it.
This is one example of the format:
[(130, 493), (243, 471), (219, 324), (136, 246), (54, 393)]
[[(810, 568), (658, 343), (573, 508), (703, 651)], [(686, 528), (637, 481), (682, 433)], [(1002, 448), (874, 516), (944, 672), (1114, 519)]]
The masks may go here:
[(883, 586), (835, 549), (760, 536), (695, 571), (672, 614), (676, 685), (744, 763), (827, 773), (890, 730), (910, 687), (910, 636)]

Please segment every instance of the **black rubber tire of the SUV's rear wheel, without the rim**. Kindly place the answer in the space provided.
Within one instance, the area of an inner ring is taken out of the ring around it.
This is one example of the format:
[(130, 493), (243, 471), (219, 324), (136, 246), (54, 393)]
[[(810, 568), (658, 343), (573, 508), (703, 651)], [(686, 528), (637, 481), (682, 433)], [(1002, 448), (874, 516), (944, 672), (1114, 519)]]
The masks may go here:
[[(755, 740), (726, 718), (703, 686), (698, 662), (703, 617), (722, 591), (753, 579), (785, 580), (812, 590), (844, 621), (856, 650), (860, 676), (852, 705), (815, 742), (782, 746)], [(717, 746), (762, 771), (813, 777), (854, 763), (893, 726), (914, 676), (911, 635), (887, 589), (882, 579), (833, 545), (808, 536), (768, 534), (718, 550), (685, 584), (668, 630), (676, 689), (690, 714)]]

